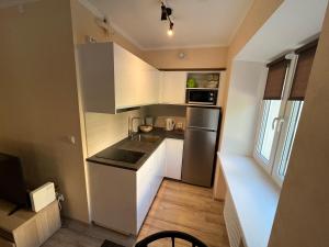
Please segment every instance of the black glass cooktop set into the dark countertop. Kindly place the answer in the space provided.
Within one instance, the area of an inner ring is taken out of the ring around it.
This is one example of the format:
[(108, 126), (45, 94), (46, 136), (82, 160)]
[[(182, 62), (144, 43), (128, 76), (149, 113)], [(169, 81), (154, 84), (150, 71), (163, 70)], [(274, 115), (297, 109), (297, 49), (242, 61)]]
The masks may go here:
[(141, 151), (110, 148), (100, 151), (95, 155), (95, 157), (122, 162), (136, 164), (144, 155), (145, 153)]

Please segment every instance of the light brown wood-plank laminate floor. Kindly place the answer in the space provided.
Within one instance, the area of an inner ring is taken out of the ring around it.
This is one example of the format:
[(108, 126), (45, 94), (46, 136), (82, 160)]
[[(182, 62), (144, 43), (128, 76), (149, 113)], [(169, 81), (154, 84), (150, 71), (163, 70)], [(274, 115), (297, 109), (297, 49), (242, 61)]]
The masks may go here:
[[(212, 190), (163, 180), (137, 240), (166, 229), (191, 234), (208, 247), (229, 247), (223, 217), (224, 202), (212, 199)], [(136, 238), (67, 220), (44, 247), (100, 247), (104, 239), (134, 246)], [(171, 246), (164, 239), (151, 246)], [(177, 246), (191, 246), (178, 242)]]

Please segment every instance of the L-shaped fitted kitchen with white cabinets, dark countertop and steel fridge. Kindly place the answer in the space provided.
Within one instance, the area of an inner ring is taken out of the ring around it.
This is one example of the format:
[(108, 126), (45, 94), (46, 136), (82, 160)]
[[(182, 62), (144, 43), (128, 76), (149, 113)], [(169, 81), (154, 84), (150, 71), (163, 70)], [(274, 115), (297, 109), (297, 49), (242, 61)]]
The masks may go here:
[(163, 177), (213, 186), (225, 71), (159, 71), (115, 43), (80, 45), (79, 57), (87, 111), (146, 115), (129, 115), (128, 137), (87, 159), (92, 221), (137, 235)]

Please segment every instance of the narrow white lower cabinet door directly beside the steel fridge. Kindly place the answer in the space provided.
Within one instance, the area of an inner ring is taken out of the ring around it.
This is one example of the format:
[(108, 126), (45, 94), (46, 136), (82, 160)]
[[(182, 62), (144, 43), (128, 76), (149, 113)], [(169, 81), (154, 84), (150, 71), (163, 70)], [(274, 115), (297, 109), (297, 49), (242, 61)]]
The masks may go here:
[(183, 145), (182, 139), (166, 139), (166, 177), (181, 180)]

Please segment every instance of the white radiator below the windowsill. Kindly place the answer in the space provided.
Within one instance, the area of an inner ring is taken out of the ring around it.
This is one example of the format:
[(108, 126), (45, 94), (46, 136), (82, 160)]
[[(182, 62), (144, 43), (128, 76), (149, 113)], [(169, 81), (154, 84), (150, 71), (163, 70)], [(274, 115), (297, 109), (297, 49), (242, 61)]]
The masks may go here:
[(224, 220), (230, 247), (245, 247), (236, 207), (228, 191), (225, 198)]

